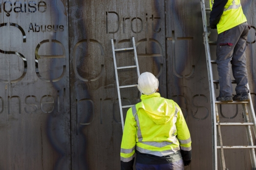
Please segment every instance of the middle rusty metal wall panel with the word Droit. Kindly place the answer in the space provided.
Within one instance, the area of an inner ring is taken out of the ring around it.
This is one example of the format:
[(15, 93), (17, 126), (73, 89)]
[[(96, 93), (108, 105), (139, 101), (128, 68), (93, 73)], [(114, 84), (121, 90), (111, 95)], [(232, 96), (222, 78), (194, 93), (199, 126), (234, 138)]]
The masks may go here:
[[(72, 169), (120, 169), (122, 128), (111, 38), (122, 48), (132, 47), (135, 37), (140, 72), (153, 72), (166, 97), (164, 1), (72, 1), (69, 21)], [(134, 65), (133, 53), (118, 53), (117, 65)], [(137, 82), (136, 69), (118, 72), (120, 85)], [(123, 105), (140, 100), (137, 88), (121, 90), (121, 96)]]

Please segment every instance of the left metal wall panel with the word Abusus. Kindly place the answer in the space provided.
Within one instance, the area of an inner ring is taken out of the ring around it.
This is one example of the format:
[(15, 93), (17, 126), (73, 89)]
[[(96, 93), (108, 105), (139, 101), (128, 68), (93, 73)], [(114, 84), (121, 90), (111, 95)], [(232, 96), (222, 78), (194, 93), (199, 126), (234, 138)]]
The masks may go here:
[(0, 169), (71, 169), (68, 1), (0, 1)]

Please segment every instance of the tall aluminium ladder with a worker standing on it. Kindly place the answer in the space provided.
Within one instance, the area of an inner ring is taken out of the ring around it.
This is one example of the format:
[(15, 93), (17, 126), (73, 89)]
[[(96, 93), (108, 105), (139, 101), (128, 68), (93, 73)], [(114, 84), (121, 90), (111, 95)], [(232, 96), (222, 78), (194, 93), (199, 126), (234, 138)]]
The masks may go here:
[[(225, 159), (224, 159), (224, 149), (249, 149), (250, 153), (250, 159), (251, 159), (251, 165), (252, 169), (256, 169), (256, 157), (255, 157), (255, 151), (256, 148), (255, 145), (253, 145), (253, 139), (252, 139), (252, 132), (251, 127), (253, 130), (253, 133), (256, 137), (256, 117), (253, 110), (253, 105), (251, 102), (251, 95), (249, 93), (249, 102), (229, 102), (229, 103), (222, 103), (220, 101), (216, 101), (216, 95), (215, 95), (215, 88), (214, 83), (218, 85), (218, 80), (213, 80), (212, 78), (212, 66), (211, 64), (217, 64), (216, 60), (211, 60), (210, 57), (210, 46), (209, 45), (216, 45), (216, 42), (209, 41), (208, 37), (210, 35), (210, 32), (207, 30), (207, 19), (206, 19), (206, 10), (210, 11), (210, 9), (205, 8), (204, 0), (201, 0), (201, 10), (202, 10), (202, 18), (203, 18), (203, 28), (204, 28), (204, 45), (205, 45), (205, 54), (206, 54), (206, 61), (207, 61), (207, 71), (208, 71), (208, 79), (209, 79), (209, 90), (210, 90), (210, 104), (211, 104), (211, 120), (212, 120), (212, 163), (213, 163), (213, 169), (218, 169), (218, 162), (217, 162), (217, 149), (220, 149), (220, 160), (221, 160), (221, 169), (222, 170), (228, 170), (225, 165)], [(236, 83), (236, 81), (232, 80), (232, 83)], [(249, 89), (249, 84), (247, 84), (247, 87)], [(243, 114), (245, 123), (221, 123), (219, 119), (219, 113), (218, 113), (218, 105), (221, 106), (221, 104), (234, 104), (238, 105), (241, 104), (243, 107)], [(217, 126), (218, 126), (218, 144), (217, 144)], [(247, 140), (248, 145), (247, 146), (223, 146), (222, 143), (222, 136), (221, 136), (221, 126), (245, 126), (246, 127), (246, 133), (247, 133)]]

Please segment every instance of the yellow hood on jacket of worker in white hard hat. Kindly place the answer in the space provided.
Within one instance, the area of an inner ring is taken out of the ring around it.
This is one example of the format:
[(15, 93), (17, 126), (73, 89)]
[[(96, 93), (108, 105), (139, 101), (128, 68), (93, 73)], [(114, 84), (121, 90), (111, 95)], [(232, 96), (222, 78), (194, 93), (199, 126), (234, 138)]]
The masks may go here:
[(143, 109), (156, 124), (166, 124), (175, 113), (175, 103), (161, 98), (159, 93), (141, 95), (138, 109)]

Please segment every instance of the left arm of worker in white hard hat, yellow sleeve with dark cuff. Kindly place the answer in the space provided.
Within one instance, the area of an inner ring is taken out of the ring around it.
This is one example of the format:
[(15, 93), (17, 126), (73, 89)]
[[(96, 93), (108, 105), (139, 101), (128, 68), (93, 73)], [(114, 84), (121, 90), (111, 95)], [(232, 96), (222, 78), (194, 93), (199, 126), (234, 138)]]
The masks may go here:
[(136, 146), (136, 121), (130, 108), (127, 111), (121, 143), (121, 170), (132, 170)]

